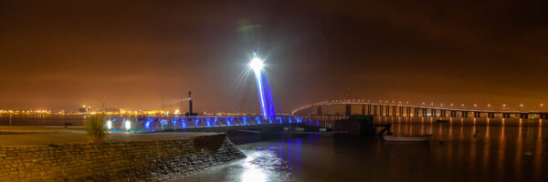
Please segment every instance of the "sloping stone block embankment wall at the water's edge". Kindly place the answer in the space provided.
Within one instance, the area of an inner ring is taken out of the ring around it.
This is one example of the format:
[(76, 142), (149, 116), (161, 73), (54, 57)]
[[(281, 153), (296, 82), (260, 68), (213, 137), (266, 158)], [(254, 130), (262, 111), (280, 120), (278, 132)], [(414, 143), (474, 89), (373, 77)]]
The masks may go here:
[(243, 158), (225, 134), (0, 147), (0, 181), (158, 181)]

